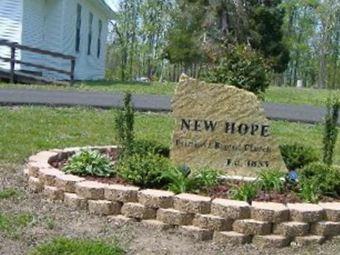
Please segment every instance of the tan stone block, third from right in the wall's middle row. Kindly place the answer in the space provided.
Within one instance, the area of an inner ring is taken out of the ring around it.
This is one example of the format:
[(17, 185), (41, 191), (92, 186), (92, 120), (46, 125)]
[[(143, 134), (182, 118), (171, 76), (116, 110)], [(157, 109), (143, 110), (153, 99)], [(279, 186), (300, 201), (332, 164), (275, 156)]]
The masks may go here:
[(246, 235), (269, 235), (272, 232), (272, 224), (253, 219), (236, 220), (233, 230)]

